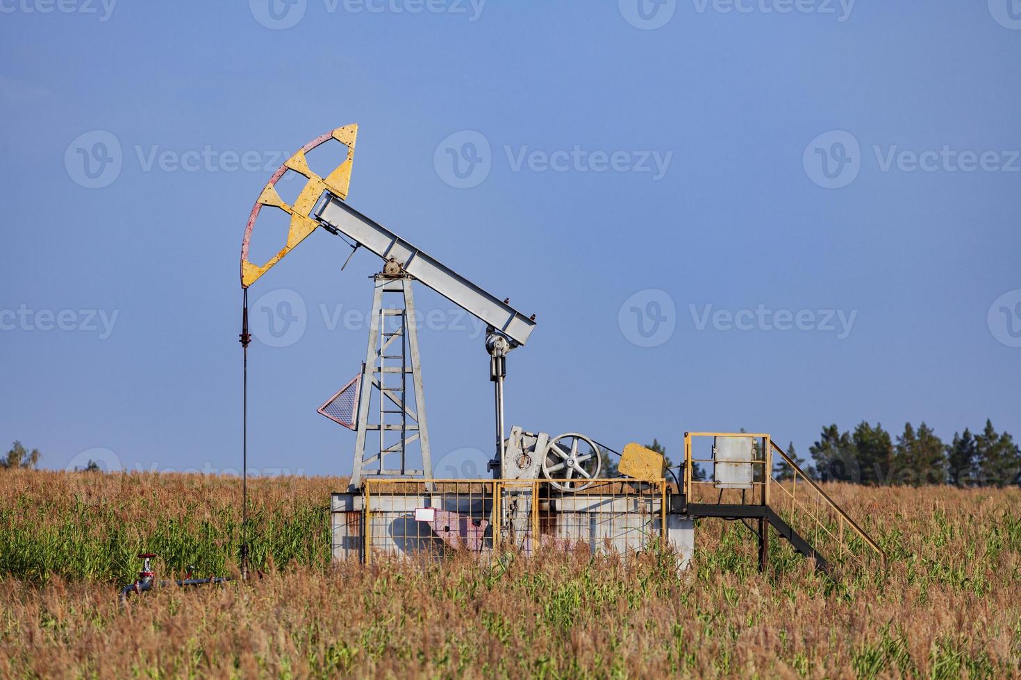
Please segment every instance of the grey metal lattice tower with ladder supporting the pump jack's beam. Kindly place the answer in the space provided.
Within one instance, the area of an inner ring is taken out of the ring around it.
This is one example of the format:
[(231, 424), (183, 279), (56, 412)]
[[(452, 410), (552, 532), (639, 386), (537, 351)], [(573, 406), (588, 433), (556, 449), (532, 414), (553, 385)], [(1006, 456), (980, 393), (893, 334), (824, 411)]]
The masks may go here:
[[(352, 488), (357, 488), (367, 476), (433, 476), (412, 280), (406, 274), (375, 276), (369, 347), (361, 369)], [(414, 404), (408, 399), (409, 389), (414, 390)], [(372, 411), (378, 416), (377, 422), (370, 422)], [(378, 448), (375, 442), (368, 446), (370, 432), (379, 433)], [(421, 469), (408, 468), (408, 448), (414, 443), (418, 443), (422, 456)]]

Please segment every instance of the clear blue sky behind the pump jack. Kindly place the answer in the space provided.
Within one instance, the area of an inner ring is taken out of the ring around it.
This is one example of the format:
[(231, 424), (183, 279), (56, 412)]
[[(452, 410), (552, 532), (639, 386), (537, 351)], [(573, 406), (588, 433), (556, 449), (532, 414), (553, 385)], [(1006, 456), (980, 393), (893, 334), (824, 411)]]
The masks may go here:
[[(1021, 3), (269, 1), (0, 0), (0, 441), (237, 468), (245, 220), (349, 122), (349, 203), (537, 315), (508, 425), (1021, 434)], [(251, 289), (305, 308), (250, 350), (257, 470), (350, 470), (315, 413), (364, 355), (379, 263), (346, 256), (313, 233)], [(465, 473), (482, 338), (417, 302)]]

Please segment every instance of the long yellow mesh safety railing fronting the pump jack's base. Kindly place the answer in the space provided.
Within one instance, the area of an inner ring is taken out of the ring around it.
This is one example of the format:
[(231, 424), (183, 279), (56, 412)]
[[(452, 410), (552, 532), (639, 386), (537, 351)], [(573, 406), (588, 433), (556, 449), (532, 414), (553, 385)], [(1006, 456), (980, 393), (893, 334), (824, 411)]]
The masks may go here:
[(664, 479), (595, 479), (576, 491), (561, 491), (555, 481), (367, 479), (362, 559), (583, 546), (624, 553), (666, 535)]

